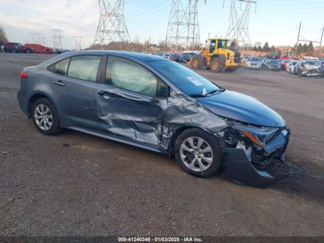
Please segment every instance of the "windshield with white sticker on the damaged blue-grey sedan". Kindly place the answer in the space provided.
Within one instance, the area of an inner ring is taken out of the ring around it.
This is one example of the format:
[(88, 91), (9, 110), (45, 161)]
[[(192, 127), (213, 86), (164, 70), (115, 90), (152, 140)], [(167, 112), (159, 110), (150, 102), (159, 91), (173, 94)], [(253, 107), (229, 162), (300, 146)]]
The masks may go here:
[(164, 74), (174, 85), (187, 95), (202, 94), (204, 89), (206, 89), (207, 93), (219, 89), (206, 78), (176, 62), (169, 60), (152, 60), (149, 61), (148, 64)]

